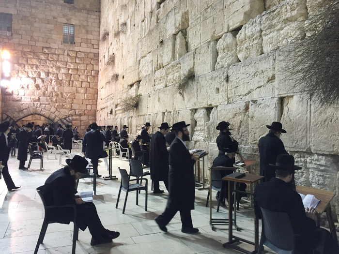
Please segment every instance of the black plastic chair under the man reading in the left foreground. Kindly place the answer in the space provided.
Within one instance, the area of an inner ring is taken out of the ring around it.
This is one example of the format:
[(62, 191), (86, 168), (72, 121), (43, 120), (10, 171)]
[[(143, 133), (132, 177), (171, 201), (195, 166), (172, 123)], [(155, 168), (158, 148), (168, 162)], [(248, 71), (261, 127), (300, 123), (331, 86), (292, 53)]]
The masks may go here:
[(60, 223), (58, 221), (52, 221), (52, 220), (48, 220), (48, 211), (50, 209), (54, 209), (54, 208), (63, 208), (63, 207), (71, 207), (73, 208), (73, 213), (74, 213), (74, 220), (73, 220), (73, 224), (74, 224), (74, 232), (73, 232), (73, 246), (72, 246), (72, 254), (75, 254), (76, 253), (76, 242), (77, 242), (77, 238), (78, 238), (78, 233), (79, 233), (79, 228), (77, 226), (77, 222), (76, 222), (76, 218), (77, 218), (77, 207), (76, 205), (63, 205), (63, 206), (46, 206), (46, 201), (45, 201), (45, 198), (44, 198), (44, 195), (43, 195), (43, 192), (44, 192), (44, 188), (45, 186), (40, 186), (36, 189), (36, 191), (38, 192), (40, 198), (41, 198), (41, 201), (43, 202), (43, 205), (44, 205), (44, 209), (45, 209), (45, 218), (44, 218), (44, 222), (43, 222), (43, 225), (42, 225), (42, 228), (41, 228), (41, 231), (40, 231), (40, 235), (39, 235), (39, 238), (38, 238), (38, 242), (36, 244), (36, 247), (35, 247), (35, 250), (34, 250), (34, 254), (37, 254), (38, 253), (38, 249), (39, 249), (39, 245), (41, 243), (43, 243), (44, 241), (44, 238), (45, 238), (45, 234), (46, 234), (46, 230), (47, 230), (47, 226), (48, 224), (51, 224), (51, 223)]

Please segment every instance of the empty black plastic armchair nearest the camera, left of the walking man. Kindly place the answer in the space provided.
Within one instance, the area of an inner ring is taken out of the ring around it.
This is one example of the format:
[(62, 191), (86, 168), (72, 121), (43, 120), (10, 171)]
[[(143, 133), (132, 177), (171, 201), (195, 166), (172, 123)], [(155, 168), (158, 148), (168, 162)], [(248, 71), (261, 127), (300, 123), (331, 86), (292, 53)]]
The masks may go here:
[[(115, 206), (115, 208), (118, 208), (120, 193), (122, 190), (126, 192), (125, 202), (123, 204), (123, 213), (125, 213), (128, 193), (132, 191), (137, 191), (137, 206), (138, 206), (139, 190), (144, 190), (146, 192), (145, 211), (147, 211), (147, 179), (138, 178), (137, 175), (128, 175), (126, 169), (121, 169), (120, 167), (118, 168), (119, 168), (120, 175), (121, 175), (121, 184), (120, 184), (120, 189), (119, 189), (119, 194), (118, 194), (117, 205)], [(136, 177), (136, 179), (130, 179), (131, 176)], [(139, 184), (139, 180), (145, 180), (146, 185), (143, 186)], [(137, 181), (137, 183), (129, 184), (130, 181)]]

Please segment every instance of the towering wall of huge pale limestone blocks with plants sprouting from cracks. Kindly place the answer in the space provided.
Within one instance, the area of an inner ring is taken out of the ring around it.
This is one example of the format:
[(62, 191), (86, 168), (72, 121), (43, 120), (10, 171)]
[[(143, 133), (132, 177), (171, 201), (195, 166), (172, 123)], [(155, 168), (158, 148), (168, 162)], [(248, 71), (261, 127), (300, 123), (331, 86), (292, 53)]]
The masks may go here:
[[(339, 191), (339, 105), (318, 105), (284, 72), (319, 0), (102, 0), (97, 121), (190, 123), (191, 147), (216, 157), (231, 122), (245, 158), (259, 159), (266, 124), (281, 121), (299, 184)], [(122, 103), (139, 95), (139, 106)], [(339, 214), (339, 198), (333, 205)]]

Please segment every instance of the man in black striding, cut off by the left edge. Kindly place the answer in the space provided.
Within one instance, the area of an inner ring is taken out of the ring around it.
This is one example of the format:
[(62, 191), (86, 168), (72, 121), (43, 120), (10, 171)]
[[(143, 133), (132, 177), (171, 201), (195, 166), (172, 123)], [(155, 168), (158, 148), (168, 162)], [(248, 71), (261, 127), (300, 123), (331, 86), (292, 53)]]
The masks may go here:
[(10, 148), (8, 147), (8, 133), (10, 132), (9, 123), (0, 123), (0, 168), (2, 167), (2, 176), (7, 185), (7, 190), (16, 190), (16, 187), (11, 175), (8, 172), (7, 161), (9, 158)]

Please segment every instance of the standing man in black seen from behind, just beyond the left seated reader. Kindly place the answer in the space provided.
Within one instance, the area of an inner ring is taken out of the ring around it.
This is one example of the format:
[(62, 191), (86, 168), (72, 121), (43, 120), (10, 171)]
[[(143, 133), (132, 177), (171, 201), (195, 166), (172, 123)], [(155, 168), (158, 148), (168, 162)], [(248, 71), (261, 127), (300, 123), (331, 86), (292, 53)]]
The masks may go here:
[(85, 152), (86, 158), (90, 158), (93, 164), (93, 172), (96, 177), (101, 177), (98, 174), (98, 161), (99, 158), (108, 157), (107, 152), (104, 151), (104, 144), (106, 142), (105, 136), (98, 131), (98, 125), (93, 122), (91, 131), (84, 135), (82, 140), (82, 152)]

